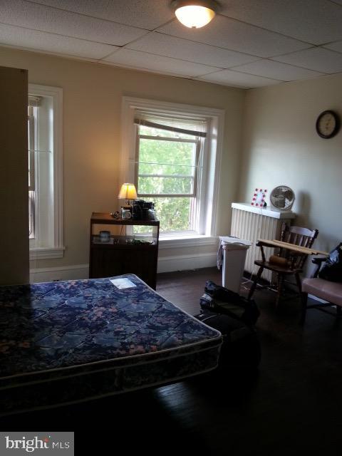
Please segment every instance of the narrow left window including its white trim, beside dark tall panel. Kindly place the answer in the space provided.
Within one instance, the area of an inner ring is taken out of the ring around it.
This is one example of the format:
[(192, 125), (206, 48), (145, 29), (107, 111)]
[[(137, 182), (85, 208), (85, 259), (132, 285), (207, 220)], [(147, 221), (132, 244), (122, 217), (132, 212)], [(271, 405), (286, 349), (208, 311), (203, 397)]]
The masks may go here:
[(30, 259), (63, 257), (62, 90), (28, 85)]

